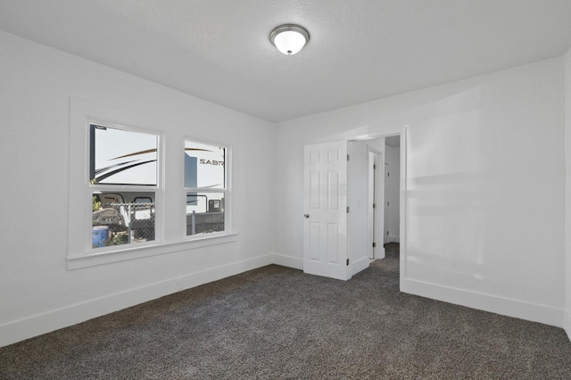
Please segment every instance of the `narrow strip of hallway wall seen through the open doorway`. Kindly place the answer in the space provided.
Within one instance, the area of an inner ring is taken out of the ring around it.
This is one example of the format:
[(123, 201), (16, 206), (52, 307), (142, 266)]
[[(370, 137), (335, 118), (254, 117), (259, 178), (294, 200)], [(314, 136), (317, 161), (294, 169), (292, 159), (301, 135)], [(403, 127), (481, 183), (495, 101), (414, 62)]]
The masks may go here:
[[(385, 243), (399, 242), (400, 227), (400, 186), (401, 186), (401, 149), (398, 146), (385, 148)], [(388, 206), (386, 205), (388, 202)], [(387, 234), (388, 232), (388, 234)]]

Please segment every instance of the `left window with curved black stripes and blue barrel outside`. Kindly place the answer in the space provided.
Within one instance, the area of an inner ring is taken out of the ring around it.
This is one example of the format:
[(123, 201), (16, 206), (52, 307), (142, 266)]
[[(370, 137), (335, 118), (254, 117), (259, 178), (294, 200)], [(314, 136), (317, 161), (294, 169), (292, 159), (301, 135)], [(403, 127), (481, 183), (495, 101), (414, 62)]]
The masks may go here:
[(95, 123), (88, 128), (92, 248), (152, 242), (159, 136)]

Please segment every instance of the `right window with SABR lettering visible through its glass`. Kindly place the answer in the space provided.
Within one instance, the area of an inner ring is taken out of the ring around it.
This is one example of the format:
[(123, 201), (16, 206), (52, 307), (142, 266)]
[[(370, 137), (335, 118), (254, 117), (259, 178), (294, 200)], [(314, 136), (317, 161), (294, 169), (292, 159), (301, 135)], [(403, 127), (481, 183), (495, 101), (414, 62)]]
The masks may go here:
[(203, 236), (228, 230), (228, 149), (185, 142), (186, 235)]

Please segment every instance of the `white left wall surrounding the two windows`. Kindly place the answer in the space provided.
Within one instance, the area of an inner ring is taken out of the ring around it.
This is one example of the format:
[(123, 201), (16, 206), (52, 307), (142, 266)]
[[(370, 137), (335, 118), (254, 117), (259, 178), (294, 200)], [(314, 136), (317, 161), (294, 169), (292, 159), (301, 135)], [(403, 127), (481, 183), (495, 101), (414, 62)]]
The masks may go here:
[[(271, 262), (272, 124), (4, 32), (0, 83), (0, 345)], [(236, 241), (68, 270), (70, 98), (174, 120), (169, 141), (223, 136)]]

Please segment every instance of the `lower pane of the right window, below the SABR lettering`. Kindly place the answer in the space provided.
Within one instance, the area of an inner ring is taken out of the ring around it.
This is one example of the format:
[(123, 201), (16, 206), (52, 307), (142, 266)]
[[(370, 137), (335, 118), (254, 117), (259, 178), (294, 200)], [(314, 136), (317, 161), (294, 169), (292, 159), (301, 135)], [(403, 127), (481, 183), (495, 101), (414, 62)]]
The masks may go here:
[(186, 235), (224, 231), (224, 193), (186, 193)]

